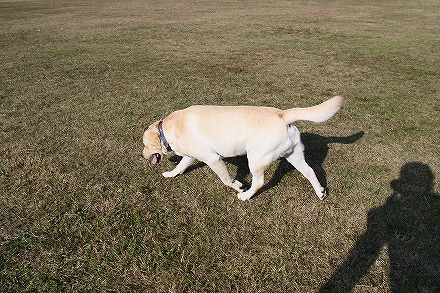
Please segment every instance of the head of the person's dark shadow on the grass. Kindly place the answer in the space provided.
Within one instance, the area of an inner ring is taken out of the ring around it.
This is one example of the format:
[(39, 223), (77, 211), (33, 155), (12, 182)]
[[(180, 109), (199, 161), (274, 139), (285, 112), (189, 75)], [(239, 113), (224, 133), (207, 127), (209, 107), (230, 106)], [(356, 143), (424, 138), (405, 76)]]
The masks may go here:
[(400, 169), (400, 178), (391, 181), (391, 188), (402, 197), (430, 194), (434, 188), (434, 174), (426, 164), (407, 163)]

